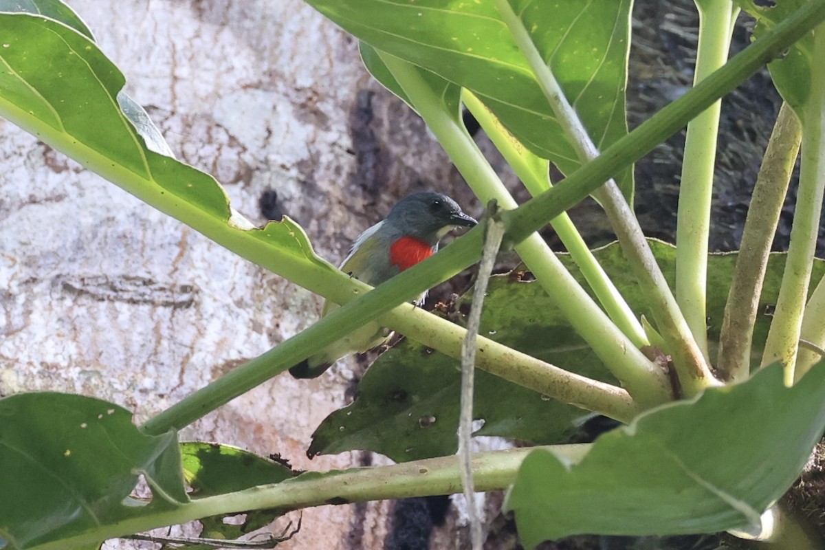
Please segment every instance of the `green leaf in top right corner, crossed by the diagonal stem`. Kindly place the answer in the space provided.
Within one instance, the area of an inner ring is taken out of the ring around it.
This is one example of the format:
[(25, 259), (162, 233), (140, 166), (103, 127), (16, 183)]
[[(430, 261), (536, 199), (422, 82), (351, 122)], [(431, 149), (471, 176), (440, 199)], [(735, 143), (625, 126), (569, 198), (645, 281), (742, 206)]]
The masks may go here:
[[(758, 6), (753, 0), (737, 0), (744, 12), (757, 20), (753, 35), (758, 38), (770, 31), (777, 23), (790, 16), (807, 0), (776, 0), (771, 7)], [(781, 59), (768, 63), (776, 90), (782, 99), (794, 108), (799, 119), (805, 120), (805, 106), (811, 88), (811, 63), (813, 61), (813, 31), (808, 32), (788, 49)]]

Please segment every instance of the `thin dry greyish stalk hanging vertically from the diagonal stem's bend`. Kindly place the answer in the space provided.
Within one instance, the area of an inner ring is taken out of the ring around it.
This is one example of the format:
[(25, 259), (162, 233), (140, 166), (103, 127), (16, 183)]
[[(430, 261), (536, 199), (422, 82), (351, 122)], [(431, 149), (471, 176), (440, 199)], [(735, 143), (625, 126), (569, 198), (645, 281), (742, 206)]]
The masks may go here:
[(479, 265), (479, 275), (473, 289), (473, 305), (467, 316), (467, 334), (461, 345), (461, 413), (459, 417), (459, 458), (461, 459), (461, 483), (464, 486), (464, 498), (467, 499), (467, 515), (473, 550), (482, 550), (484, 539), (479, 505), (475, 500), (473, 482), (473, 389), (475, 381), (476, 337), (481, 325), (481, 310), (493, 265), (496, 263), (498, 248), (502, 246), (504, 226), (496, 221), (493, 204), (488, 207), (484, 219), (484, 250)]

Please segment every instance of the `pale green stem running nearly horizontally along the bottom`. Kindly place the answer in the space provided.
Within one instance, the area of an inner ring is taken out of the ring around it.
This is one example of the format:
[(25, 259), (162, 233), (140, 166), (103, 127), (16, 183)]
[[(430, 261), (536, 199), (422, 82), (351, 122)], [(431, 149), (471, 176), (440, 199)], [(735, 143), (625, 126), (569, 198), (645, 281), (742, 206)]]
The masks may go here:
[[(571, 463), (579, 462), (590, 445), (555, 445), (533, 449), (509, 449), (475, 454), (473, 476), (479, 491), (500, 491), (516, 481), (526, 456), (546, 449)], [(167, 525), (184, 524), (213, 515), (232, 515), (247, 510), (299, 510), (330, 502), (380, 501), (412, 496), (452, 495), (461, 491), (459, 458), (428, 458), (393, 466), (352, 468), (318, 476), (299, 476), (285, 482), (261, 485), (243, 491), (208, 496), (174, 507), (155, 506), (136, 510), (134, 517), (97, 525), (86, 532), (53, 542), (39, 543), (28, 550), (97, 548), (108, 538), (141, 533)]]

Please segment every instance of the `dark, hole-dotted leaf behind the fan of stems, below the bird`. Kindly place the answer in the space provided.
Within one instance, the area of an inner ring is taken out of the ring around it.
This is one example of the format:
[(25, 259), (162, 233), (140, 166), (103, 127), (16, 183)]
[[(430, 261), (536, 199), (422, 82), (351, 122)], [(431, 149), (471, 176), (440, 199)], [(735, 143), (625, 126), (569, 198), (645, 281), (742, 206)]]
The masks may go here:
[[(676, 249), (650, 240), (662, 271), (673, 284)], [(639, 287), (626, 269), (618, 244), (594, 251), (596, 259), (630, 308), (653, 318), (647, 309), (645, 289)], [(585, 284), (573, 261), (560, 255), (577, 280)], [(714, 254), (709, 258), (708, 325), (709, 340), (719, 340), (719, 328), (728, 298), (736, 254)], [(771, 254), (760, 299), (760, 311), (776, 303), (785, 254)], [(813, 285), (825, 273), (825, 262), (815, 261)], [(460, 304), (469, 307), (469, 292)], [(770, 328), (771, 317), (757, 317), (754, 328), (755, 364)], [(577, 335), (553, 300), (535, 281), (523, 280), (517, 271), (494, 275), (484, 299), (481, 334), (507, 346), (605, 382), (616, 383), (601, 361)], [(574, 433), (586, 412), (521, 388), (501, 378), (478, 372), (474, 413), (484, 425), (476, 435), (501, 435), (535, 444), (563, 442)], [(309, 454), (341, 453), (369, 449), (397, 462), (455, 453), (458, 425), (459, 363), (446, 355), (431, 352), (410, 341), (388, 350), (367, 370), (355, 402), (333, 412), (318, 426)]]

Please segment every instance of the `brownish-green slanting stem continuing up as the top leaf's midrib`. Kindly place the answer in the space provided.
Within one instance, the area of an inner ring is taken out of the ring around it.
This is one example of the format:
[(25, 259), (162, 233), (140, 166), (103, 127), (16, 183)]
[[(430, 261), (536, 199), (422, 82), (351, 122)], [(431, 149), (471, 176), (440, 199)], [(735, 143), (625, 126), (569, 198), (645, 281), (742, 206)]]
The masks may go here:
[[(568, 141), (576, 150), (577, 156), (582, 162), (596, 158), (599, 155), (596, 145), (587, 134), (587, 129), (582, 125), (573, 106), (564, 96), (553, 72), (544, 63), (521, 19), (513, 12), (510, 2), (496, 0), (496, 6), (516, 39), (516, 44), (530, 63), (544, 96), (559, 120), (559, 125), (567, 134)], [(615, 181), (606, 181), (603, 188), (594, 190), (593, 196), (605, 209), (634, 275), (639, 279), (639, 284), (649, 289), (648, 302), (656, 316), (658, 330), (667, 342), (668, 349), (664, 351), (673, 357), (681, 390), (687, 395), (693, 395), (708, 386), (719, 385), (719, 381), (709, 369), (705, 354), (691, 335), (690, 327), (676, 304), (656, 258), (653, 257), (639, 222)]]

